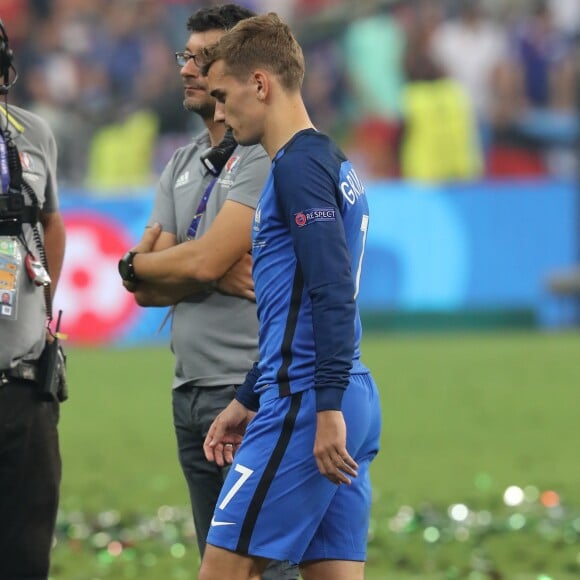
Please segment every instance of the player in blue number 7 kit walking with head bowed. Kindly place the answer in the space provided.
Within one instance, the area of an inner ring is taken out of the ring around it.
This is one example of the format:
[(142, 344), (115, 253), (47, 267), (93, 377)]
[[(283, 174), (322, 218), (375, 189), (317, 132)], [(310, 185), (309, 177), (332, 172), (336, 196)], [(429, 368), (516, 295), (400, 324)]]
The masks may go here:
[(199, 579), (245, 580), (279, 559), (304, 580), (362, 580), (381, 423), (359, 349), (364, 187), (312, 125), (302, 50), (276, 14), (240, 22), (205, 57), (236, 140), (261, 143), (272, 166), (252, 231), (259, 362), (205, 441), (232, 468)]

